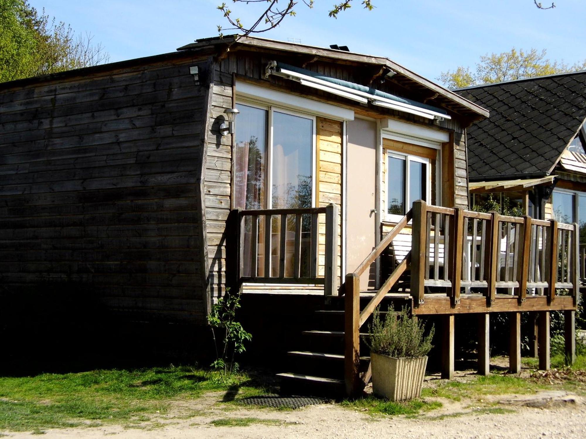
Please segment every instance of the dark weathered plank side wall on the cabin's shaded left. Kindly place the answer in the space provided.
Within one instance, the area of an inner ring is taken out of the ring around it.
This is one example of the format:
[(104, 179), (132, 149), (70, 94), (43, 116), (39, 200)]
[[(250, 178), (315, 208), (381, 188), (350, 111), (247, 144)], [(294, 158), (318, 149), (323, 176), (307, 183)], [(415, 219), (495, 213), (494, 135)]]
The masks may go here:
[(0, 91), (0, 294), (26, 303), (59, 286), (125, 319), (205, 321), (196, 193), (205, 87), (194, 65)]

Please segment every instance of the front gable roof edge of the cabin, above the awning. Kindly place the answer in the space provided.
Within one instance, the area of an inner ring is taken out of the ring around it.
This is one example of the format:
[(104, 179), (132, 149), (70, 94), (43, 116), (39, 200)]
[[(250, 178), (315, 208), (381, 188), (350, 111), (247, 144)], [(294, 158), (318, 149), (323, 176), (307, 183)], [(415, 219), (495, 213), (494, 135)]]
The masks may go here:
[(308, 56), (312, 60), (334, 61), (341, 64), (370, 64), (380, 68), (387, 68), (395, 73), (393, 80), (413, 90), (425, 90), (428, 100), (434, 100), (442, 107), (454, 111), (456, 114), (465, 115), (469, 121), (480, 120), (488, 117), (489, 113), (481, 105), (466, 100), (454, 91), (447, 90), (441, 85), (400, 66), (386, 57), (365, 55), (346, 50), (337, 50), (325, 47), (308, 46), (307, 44), (282, 42), (262, 37), (240, 37), (239, 35), (216, 36), (197, 39), (193, 43), (179, 47), (177, 50), (201, 50), (210, 46), (226, 46), (229, 50), (248, 48), (250, 50), (267, 50), (288, 54)]

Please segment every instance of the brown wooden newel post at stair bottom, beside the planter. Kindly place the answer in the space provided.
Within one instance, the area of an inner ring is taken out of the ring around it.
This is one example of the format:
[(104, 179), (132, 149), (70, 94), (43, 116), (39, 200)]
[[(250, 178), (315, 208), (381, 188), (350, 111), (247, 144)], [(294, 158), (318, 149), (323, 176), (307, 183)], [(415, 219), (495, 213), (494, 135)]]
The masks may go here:
[(346, 395), (356, 396), (360, 392), (360, 277), (351, 273), (345, 285), (344, 328), (344, 380)]

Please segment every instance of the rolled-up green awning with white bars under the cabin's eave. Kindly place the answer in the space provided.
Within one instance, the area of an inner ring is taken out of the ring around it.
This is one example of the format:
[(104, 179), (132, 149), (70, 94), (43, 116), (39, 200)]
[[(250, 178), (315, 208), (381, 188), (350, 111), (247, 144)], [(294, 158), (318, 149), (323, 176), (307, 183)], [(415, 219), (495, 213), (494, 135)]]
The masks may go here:
[(376, 90), (366, 85), (343, 81), (338, 78), (332, 78), (315, 73), (305, 68), (290, 66), (277, 61), (270, 61), (267, 66), (268, 75), (280, 76), (293, 81), (297, 81), (307, 87), (316, 88), (326, 91), (343, 98), (347, 98), (361, 104), (371, 102), (378, 107), (390, 108), (396, 111), (403, 111), (427, 119), (451, 119), (444, 110), (422, 102), (413, 101), (407, 98)]

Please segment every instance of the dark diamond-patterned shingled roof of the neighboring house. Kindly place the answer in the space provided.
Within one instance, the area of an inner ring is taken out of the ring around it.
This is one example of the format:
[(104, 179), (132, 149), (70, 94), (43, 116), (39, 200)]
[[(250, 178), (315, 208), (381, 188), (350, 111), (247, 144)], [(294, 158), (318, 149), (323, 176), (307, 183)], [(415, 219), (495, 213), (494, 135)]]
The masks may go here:
[(586, 70), (454, 91), (490, 111), (468, 128), (472, 181), (547, 175), (586, 118)]

